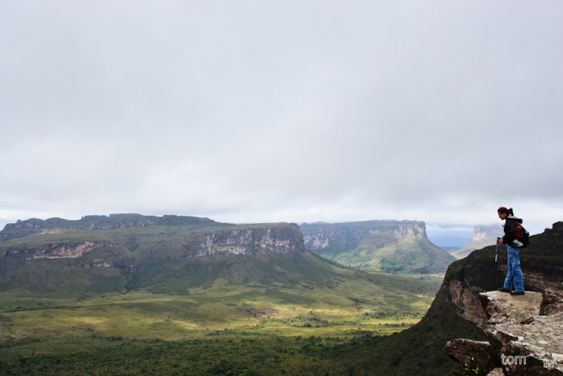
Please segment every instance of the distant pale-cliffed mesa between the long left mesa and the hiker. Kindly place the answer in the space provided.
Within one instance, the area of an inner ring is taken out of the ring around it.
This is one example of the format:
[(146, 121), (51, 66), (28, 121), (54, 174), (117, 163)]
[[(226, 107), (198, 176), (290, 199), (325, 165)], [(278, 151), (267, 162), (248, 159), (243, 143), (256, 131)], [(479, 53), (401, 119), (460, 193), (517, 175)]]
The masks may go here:
[(429, 241), (424, 222), (416, 220), (303, 223), (299, 228), (307, 249), (360, 270), (442, 273), (455, 261)]

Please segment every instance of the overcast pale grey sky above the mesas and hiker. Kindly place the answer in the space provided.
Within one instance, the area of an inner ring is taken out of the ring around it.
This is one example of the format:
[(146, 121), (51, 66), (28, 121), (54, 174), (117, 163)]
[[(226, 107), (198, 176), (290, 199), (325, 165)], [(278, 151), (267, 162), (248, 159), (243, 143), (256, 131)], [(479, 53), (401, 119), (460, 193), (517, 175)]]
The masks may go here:
[(563, 2), (0, 1), (0, 225), (563, 220)]

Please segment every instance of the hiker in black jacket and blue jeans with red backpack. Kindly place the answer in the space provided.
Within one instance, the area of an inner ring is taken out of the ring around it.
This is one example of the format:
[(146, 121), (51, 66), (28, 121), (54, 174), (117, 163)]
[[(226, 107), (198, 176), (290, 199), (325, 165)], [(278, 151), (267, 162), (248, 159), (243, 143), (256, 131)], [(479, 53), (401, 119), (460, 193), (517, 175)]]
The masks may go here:
[[(511, 295), (524, 295), (524, 282), (522, 281), (522, 270), (520, 269), (520, 249), (523, 244), (516, 239), (516, 223), (522, 223), (520, 218), (514, 217), (512, 208), (501, 206), (498, 208), (498, 218), (505, 220), (505, 236), (497, 239), (498, 244), (506, 244), (508, 274), (505, 285), (498, 289), (500, 292), (509, 292)], [(512, 291), (512, 284), (514, 289)]]

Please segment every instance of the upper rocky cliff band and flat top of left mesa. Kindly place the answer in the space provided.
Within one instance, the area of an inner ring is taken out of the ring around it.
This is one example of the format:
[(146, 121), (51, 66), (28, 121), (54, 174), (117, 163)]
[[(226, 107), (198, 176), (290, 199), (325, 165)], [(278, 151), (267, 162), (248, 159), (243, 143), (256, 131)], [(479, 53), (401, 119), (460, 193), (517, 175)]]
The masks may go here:
[[(178, 228), (171, 229), (173, 225)], [(57, 228), (52, 228), (54, 226)], [(168, 228), (158, 230), (157, 226)], [(15, 236), (0, 242), (0, 253), (8, 263), (14, 258), (15, 265), (38, 258), (77, 258), (81, 265), (98, 265), (88, 261), (91, 257), (87, 254), (95, 253), (105, 255), (96, 256), (98, 259), (110, 260), (103, 263), (106, 267), (120, 267), (123, 259), (131, 258), (128, 263), (132, 268), (131, 264), (139, 263), (145, 253), (150, 253), (148, 258), (156, 260), (163, 254), (169, 258), (193, 259), (270, 253), (287, 255), (295, 249), (305, 249), (298, 226), (288, 223), (229, 225), (207, 218), (176, 215), (114, 214), (109, 218), (87, 216), (77, 221), (31, 219), (13, 224), (16, 230), (12, 225), (7, 227), (4, 234)]]

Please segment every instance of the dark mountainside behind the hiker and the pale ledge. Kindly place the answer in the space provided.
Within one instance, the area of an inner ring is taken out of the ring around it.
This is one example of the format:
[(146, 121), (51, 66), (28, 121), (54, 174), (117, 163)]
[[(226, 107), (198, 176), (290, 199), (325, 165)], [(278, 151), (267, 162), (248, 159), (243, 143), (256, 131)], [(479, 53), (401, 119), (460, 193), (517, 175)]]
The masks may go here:
[[(526, 291), (562, 288), (563, 222), (534, 235), (530, 244), (521, 255)], [(507, 272), (506, 248), (503, 246), (498, 254), (494, 287), (495, 246), (473, 251), (448, 267), (431, 308), (417, 325), (389, 337), (365, 339), (362, 346), (343, 349), (339, 367), (354, 375), (371, 375), (372, 370), (377, 370), (377, 375), (450, 375), (457, 363), (445, 354), (448, 341), (487, 340), (481, 328), (486, 327), (488, 315), (479, 293), (502, 287)], [(548, 374), (556, 373), (545, 375)]]

